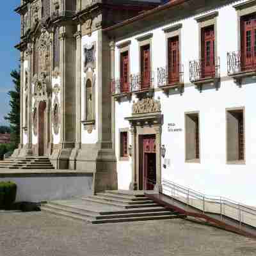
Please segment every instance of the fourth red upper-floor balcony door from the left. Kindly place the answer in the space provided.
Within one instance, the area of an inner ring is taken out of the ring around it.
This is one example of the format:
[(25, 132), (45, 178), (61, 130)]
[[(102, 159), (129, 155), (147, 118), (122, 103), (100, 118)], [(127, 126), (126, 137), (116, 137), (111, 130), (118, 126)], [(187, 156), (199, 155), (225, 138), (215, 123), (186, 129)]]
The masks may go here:
[(214, 76), (214, 26), (209, 26), (202, 29), (202, 78)]

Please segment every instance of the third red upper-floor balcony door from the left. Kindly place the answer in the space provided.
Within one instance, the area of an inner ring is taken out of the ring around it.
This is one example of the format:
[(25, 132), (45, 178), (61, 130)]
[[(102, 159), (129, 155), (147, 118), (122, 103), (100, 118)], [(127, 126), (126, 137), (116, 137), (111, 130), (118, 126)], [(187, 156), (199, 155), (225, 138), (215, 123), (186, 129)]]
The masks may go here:
[(168, 83), (179, 82), (179, 36), (168, 39)]

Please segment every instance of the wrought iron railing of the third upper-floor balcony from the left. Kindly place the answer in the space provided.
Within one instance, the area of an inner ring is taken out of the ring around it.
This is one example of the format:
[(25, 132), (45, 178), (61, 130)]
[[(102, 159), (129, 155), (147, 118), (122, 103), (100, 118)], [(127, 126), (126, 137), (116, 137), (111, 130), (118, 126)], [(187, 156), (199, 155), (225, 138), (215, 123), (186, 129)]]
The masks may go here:
[(183, 65), (157, 68), (157, 86), (175, 86), (184, 82)]

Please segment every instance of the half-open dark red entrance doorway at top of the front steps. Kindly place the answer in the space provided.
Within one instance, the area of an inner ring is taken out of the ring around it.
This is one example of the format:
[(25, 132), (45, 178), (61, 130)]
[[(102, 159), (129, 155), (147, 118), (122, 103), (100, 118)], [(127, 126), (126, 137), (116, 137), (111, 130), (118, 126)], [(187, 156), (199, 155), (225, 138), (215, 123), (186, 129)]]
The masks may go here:
[(156, 185), (156, 135), (140, 136), (139, 189), (152, 190)]

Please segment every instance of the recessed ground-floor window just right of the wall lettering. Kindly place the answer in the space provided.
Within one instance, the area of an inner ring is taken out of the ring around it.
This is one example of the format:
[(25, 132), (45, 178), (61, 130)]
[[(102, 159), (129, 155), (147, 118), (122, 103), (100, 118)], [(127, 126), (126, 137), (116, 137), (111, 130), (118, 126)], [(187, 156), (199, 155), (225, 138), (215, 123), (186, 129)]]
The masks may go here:
[(200, 160), (200, 127), (199, 113), (187, 113), (186, 123), (186, 161)]

